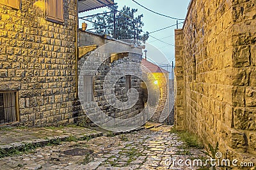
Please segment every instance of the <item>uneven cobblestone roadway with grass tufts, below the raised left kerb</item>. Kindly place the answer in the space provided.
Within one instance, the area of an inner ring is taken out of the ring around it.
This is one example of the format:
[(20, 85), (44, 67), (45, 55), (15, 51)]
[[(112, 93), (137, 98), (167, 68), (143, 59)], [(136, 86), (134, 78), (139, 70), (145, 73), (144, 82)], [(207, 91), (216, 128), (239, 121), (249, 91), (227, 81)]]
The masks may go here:
[(170, 126), (163, 125), (117, 136), (109, 133), (89, 141), (44, 146), (31, 153), (0, 159), (0, 169), (197, 169), (168, 166), (166, 159), (170, 157), (186, 160), (205, 156), (202, 150), (183, 150), (182, 145), (176, 134), (170, 133)]

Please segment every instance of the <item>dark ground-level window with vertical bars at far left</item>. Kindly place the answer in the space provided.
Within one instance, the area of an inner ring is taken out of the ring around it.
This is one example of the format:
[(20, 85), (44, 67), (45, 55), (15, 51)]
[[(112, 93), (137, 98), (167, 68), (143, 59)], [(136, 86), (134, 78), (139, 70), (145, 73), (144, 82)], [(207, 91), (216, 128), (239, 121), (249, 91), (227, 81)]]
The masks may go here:
[(0, 93), (0, 125), (17, 121), (16, 92)]

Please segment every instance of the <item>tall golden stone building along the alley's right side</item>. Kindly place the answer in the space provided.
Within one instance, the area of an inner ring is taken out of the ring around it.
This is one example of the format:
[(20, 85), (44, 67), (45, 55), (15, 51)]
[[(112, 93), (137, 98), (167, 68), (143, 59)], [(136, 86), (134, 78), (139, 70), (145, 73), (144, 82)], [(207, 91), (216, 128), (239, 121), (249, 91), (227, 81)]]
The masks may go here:
[(176, 126), (223, 158), (256, 154), (256, 2), (192, 0), (175, 30)]

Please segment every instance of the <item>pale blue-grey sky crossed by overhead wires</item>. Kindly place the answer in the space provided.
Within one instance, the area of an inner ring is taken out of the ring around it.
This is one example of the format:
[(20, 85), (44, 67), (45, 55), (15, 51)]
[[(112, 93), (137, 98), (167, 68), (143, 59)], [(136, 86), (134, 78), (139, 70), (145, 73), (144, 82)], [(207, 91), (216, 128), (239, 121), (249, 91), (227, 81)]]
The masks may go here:
[[(168, 15), (170, 17), (175, 18), (185, 18), (186, 13), (188, 11), (189, 0), (135, 0), (143, 6), (149, 8), (150, 10), (156, 11), (158, 13), (162, 13), (164, 15)], [(158, 29), (162, 29), (164, 27), (168, 27), (170, 25), (176, 24), (176, 20), (172, 18), (162, 17), (151, 11), (145, 10), (138, 4), (134, 3), (132, 0), (115, 0), (115, 3), (118, 3), (119, 10), (123, 6), (130, 6), (131, 8), (138, 9), (137, 14), (143, 14), (142, 21), (144, 22), (143, 31), (156, 31)], [(92, 15), (95, 13), (102, 13), (102, 11), (109, 11), (108, 8), (100, 8), (97, 10), (88, 11), (82, 13), (80, 16)], [(183, 22), (183, 20), (179, 20), (179, 22)], [(81, 21), (80, 21), (81, 24)], [(81, 26), (80, 26), (81, 27)], [(88, 23), (88, 29), (92, 28), (92, 24)], [(182, 28), (182, 24), (179, 25), (179, 28)], [(168, 29), (164, 29), (163, 31), (154, 32), (150, 35), (154, 36), (157, 39), (161, 39), (165, 43), (161, 41), (157, 41), (156, 39), (150, 37), (148, 38), (147, 43), (150, 43), (152, 46), (147, 46), (148, 54), (147, 57), (154, 60), (157, 64), (168, 64), (174, 60), (174, 29), (175, 27), (171, 27)], [(171, 45), (168, 45), (169, 43)], [(156, 48), (153, 48), (155, 46)], [(159, 50), (159, 51), (157, 51)], [(161, 55), (163, 53), (163, 55)], [(166, 60), (166, 58), (168, 60)]]

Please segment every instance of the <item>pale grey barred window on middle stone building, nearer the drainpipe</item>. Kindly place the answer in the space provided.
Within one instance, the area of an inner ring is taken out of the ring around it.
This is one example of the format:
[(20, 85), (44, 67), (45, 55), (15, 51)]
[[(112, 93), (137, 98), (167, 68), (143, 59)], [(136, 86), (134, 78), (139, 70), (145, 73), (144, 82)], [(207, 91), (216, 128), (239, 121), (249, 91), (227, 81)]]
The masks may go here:
[(84, 100), (93, 101), (93, 76), (84, 76)]

